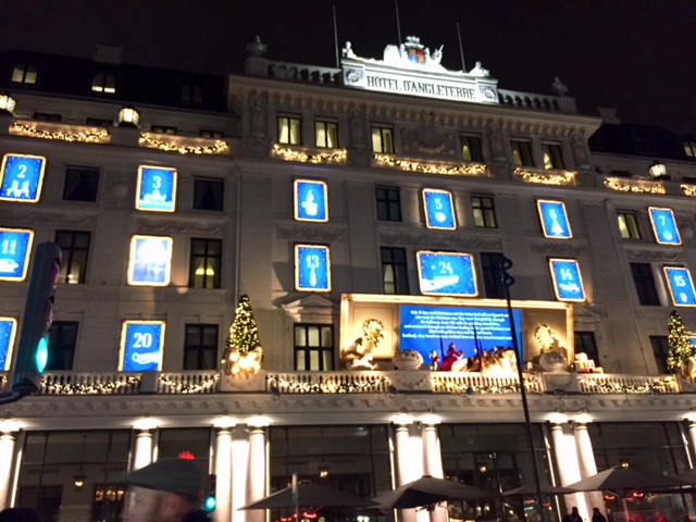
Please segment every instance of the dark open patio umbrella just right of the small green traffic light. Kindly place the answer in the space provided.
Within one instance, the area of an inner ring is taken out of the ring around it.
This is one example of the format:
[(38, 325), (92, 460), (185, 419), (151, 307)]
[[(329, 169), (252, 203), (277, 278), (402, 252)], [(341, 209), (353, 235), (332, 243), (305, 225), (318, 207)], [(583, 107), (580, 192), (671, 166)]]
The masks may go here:
[(376, 502), (320, 484), (300, 482), (297, 485), (297, 502), (293, 497), (293, 488), (286, 487), (239, 509), (294, 509), (296, 506), (300, 508), (366, 508), (376, 506)]

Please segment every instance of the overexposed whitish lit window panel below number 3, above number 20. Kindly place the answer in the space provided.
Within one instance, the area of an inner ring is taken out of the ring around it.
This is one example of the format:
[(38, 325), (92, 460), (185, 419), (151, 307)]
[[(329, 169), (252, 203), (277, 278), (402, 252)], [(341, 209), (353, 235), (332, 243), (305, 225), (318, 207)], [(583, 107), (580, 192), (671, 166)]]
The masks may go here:
[(128, 284), (166, 286), (172, 269), (171, 237), (133, 236), (128, 263)]

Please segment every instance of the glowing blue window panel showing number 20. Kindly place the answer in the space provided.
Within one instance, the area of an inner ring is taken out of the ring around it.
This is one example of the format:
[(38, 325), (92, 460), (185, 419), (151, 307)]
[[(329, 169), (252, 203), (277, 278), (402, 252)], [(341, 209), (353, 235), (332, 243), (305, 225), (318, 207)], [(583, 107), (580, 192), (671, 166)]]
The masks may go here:
[(122, 372), (158, 372), (164, 352), (164, 321), (125, 321), (121, 331)]

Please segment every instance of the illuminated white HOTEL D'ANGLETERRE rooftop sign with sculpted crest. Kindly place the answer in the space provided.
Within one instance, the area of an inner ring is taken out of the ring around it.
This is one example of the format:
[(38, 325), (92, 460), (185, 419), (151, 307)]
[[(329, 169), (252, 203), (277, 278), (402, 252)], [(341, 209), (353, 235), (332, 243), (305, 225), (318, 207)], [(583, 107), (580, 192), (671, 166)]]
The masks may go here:
[(442, 59), (442, 47), (431, 53), (415, 36), (408, 36), (400, 46), (387, 46), (383, 60), (357, 57), (347, 41), (341, 60), (344, 85), (451, 101), (498, 103), (498, 80), (481, 62), (467, 73), (446, 70), (440, 65)]

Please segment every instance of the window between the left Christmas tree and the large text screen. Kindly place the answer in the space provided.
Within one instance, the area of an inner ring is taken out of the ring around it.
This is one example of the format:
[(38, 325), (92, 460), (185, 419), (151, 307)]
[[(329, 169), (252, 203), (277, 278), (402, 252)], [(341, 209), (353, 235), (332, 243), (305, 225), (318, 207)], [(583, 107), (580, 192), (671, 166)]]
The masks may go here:
[(295, 370), (334, 369), (334, 327), (325, 324), (295, 325)]

